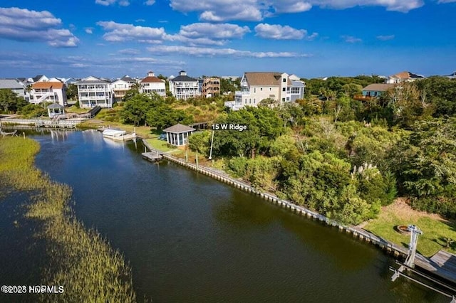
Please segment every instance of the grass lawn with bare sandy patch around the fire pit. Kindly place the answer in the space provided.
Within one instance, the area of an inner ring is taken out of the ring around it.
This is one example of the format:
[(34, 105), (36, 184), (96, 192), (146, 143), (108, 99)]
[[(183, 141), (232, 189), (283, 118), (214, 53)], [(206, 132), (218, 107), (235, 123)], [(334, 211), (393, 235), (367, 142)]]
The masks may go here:
[[(364, 228), (375, 233), (385, 240), (390, 240), (398, 245), (408, 248), (410, 235), (401, 235), (395, 230), (397, 225), (417, 225), (423, 230), (423, 235), (418, 238), (418, 252), (430, 257), (435, 252), (445, 249), (448, 252), (456, 253), (456, 225), (454, 222), (442, 220), (437, 216), (428, 216), (425, 213), (413, 211), (403, 203), (394, 203), (382, 209), (375, 220), (371, 220)], [(455, 240), (449, 248), (447, 238)]]

